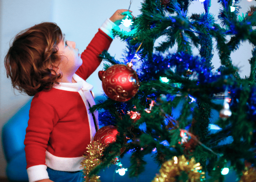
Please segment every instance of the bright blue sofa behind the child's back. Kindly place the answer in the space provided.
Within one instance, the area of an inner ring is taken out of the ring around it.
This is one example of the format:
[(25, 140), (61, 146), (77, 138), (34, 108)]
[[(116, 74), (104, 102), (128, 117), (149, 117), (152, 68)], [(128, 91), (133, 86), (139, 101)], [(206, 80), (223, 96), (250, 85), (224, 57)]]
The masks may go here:
[(2, 144), (7, 161), (6, 174), (10, 182), (27, 182), (29, 178), (26, 170), (24, 139), (29, 120), (30, 103), (27, 102), (4, 125), (2, 130)]

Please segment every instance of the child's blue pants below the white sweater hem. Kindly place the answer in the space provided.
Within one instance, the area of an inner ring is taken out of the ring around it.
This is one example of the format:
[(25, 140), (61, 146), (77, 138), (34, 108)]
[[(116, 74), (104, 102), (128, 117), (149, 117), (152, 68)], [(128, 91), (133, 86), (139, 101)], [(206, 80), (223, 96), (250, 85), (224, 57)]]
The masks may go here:
[(83, 171), (66, 172), (56, 171), (47, 167), (50, 180), (54, 182), (83, 182)]

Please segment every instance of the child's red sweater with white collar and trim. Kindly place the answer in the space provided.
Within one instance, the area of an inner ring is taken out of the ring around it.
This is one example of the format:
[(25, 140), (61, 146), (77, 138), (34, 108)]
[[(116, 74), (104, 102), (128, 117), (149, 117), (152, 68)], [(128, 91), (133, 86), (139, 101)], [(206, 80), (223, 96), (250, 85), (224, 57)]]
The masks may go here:
[(90, 92), (93, 86), (84, 80), (99, 66), (98, 55), (108, 50), (111, 42), (112, 38), (99, 29), (81, 54), (83, 64), (73, 76), (76, 83), (60, 83), (35, 94), (24, 141), (30, 182), (49, 178), (46, 166), (59, 171), (81, 170), (82, 155), (98, 127), (97, 112), (94, 118), (89, 113), (95, 104)]

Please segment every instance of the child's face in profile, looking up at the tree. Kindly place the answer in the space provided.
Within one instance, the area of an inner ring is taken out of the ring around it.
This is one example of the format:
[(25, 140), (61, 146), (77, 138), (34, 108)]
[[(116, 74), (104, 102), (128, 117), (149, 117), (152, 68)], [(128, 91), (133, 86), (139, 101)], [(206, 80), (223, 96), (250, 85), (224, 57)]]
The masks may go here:
[(59, 48), (57, 53), (61, 55), (59, 64), (61, 73), (63, 76), (73, 76), (83, 63), (79, 50), (76, 48), (76, 43), (63, 38), (63, 40), (57, 44), (57, 47)]

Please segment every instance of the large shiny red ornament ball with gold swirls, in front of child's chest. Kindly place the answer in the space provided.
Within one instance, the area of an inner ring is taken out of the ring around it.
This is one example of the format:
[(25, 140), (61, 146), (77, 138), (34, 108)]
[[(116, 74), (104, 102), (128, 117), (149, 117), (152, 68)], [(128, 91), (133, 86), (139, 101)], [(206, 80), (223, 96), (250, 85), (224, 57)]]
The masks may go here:
[(102, 76), (102, 88), (112, 100), (125, 102), (135, 96), (139, 90), (139, 78), (129, 66), (114, 64)]

